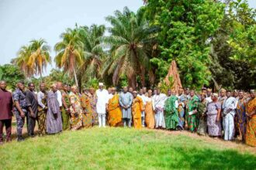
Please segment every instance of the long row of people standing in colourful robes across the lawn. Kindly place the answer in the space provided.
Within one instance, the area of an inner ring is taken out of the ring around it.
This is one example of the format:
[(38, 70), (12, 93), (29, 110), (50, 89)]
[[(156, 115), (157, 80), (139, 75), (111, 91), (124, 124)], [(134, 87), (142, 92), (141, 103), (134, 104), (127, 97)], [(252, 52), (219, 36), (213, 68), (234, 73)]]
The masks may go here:
[(212, 93), (202, 88), (201, 93), (189, 88), (161, 93), (159, 88), (139, 91), (123, 87), (89, 88), (79, 93), (78, 87), (54, 83), (49, 91), (40, 83), (35, 92), (34, 83), (25, 90), (24, 83), (17, 83), (13, 93), (0, 81), (0, 143), (3, 127), (6, 141), (11, 141), (12, 114), (16, 116), (17, 140), (23, 141), (22, 128), (25, 118), (29, 137), (34, 137), (36, 121), (38, 134), (57, 134), (64, 130), (78, 130), (99, 126), (129, 127), (140, 129), (184, 130), (211, 137), (223, 136), (234, 140), (240, 136), (247, 145), (256, 146), (256, 98), (254, 90), (247, 96), (243, 91), (221, 89)]

